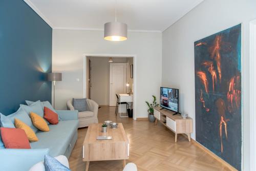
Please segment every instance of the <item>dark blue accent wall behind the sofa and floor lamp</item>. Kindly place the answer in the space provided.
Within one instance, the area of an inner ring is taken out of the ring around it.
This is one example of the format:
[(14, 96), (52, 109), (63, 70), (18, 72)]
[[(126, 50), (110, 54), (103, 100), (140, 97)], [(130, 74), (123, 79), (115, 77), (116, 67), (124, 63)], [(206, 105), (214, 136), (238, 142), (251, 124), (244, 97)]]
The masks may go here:
[(51, 102), (52, 28), (22, 0), (0, 1), (0, 113)]

